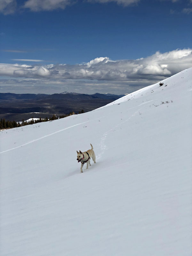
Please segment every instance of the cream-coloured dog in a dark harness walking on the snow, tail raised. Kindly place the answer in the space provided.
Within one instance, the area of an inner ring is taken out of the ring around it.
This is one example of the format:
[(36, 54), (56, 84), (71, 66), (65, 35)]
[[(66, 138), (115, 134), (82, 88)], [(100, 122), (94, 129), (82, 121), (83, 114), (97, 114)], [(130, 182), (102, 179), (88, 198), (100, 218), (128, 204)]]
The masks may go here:
[[(90, 145), (91, 145), (91, 143), (90, 143)], [(91, 145), (91, 149), (89, 149), (85, 152), (81, 152), (81, 150), (79, 150), (79, 152), (77, 151), (77, 161), (78, 161), (78, 163), (81, 162), (81, 172), (83, 172), (82, 168), (85, 163), (87, 163), (86, 169), (88, 169), (89, 165), (91, 166), (91, 164), (90, 164), (91, 157), (93, 159), (93, 162), (96, 164), (95, 152), (93, 151), (92, 145)]]

